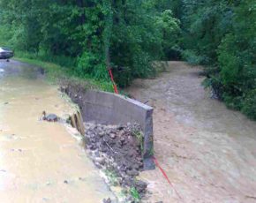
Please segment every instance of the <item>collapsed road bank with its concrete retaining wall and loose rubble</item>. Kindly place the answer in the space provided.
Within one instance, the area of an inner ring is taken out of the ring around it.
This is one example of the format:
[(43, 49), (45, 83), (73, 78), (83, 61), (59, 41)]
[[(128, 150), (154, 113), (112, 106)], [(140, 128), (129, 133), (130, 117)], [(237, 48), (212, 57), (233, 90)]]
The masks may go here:
[[(154, 169), (153, 109), (74, 82), (65, 81), (60, 90), (79, 105), (81, 115), (75, 120), (81, 116), (85, 121), (85, 129), (78, 130), (84, 135), (87, 154), (109, 185), (122, 188), (119, 201), (138, 202), (147, 192), (147, 184), (137, 178), (139, 171)], [(80, 126), (76, 123), (72, 125)]]

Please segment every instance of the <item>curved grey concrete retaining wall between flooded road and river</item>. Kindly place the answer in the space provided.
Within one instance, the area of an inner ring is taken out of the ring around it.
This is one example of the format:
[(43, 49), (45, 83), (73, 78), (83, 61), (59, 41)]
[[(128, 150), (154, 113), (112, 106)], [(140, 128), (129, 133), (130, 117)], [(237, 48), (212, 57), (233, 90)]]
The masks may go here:
[(154, 169), (153, 108), (124, 96), (68, 86), (64, 92), (79, 104), (84, 121), (97, 124), (138, 123), (144, 132), (144, 169)]

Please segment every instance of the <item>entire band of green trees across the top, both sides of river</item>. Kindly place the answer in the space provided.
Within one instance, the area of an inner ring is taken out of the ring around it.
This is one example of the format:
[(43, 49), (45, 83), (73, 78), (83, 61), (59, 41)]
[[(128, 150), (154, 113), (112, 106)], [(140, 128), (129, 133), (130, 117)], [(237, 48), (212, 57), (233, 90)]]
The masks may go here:
[[(256, 119), (254, 0), (0, 0), (0, 46), (119, 86), (154, 76), (154, 61), (206, 67), (207, 86)], [(254, 109), (253, 109), (254, 108)]]

